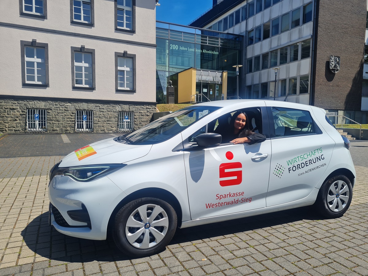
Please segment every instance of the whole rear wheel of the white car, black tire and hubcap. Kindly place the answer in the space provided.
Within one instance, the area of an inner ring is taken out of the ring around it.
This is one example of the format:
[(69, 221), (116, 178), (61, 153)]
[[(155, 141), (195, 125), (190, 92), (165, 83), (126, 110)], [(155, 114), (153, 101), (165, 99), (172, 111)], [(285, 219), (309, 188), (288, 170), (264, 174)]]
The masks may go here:
[(318, 212), (334, 219), (344, 215), (353, 198), (353, 187), (344, 175), (337, 175), (326, 180), (319, 189), (315, 202)]

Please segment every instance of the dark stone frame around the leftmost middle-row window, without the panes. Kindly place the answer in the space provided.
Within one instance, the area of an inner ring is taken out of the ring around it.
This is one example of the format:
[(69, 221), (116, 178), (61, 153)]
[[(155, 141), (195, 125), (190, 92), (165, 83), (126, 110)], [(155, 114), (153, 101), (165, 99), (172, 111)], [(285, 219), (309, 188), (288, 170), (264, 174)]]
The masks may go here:
[[(36, 82), (26, 82), (26, 60), (25, 47), (44, 48), (45, 49), (45, 78), (46, 84)], [(49, 44), (36, 42), (36, 40), (25, 41), (21, 40), (21, 69), (22, 69), (22, 86), (38, 86), (49, 87)]]

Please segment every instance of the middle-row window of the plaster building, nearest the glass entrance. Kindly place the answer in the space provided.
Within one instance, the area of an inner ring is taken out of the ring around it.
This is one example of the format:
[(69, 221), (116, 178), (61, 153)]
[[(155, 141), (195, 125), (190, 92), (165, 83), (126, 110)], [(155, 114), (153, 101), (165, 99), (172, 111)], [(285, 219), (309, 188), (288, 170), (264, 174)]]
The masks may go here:
[(135, 54), (115, 52), (116, 91), (135, 92)]

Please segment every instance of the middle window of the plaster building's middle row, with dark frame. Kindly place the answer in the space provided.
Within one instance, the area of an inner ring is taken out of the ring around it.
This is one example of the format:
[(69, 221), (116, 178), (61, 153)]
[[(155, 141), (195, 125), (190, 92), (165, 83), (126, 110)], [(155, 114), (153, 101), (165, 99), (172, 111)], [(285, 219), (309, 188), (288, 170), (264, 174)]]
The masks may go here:
[(72, 88), (94, 90), (95, 85), (95, 50), (83, 45), (71, 47)]

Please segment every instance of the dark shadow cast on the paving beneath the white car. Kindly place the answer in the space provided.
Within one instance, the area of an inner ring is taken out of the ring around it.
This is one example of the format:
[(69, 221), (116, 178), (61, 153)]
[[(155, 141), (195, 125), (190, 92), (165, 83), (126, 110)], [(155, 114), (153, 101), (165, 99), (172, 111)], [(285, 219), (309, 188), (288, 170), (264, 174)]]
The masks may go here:
[[(39, 215), (21, 231), (25, 244), (37, 255), (61, 262), (112, 262), (131, 259), (118, 250), (111, 238), (95, 241), (74, 238), (59, 233), (54, 227), (49, 226), (48, 216), (48, 212)], [(169, 245), (208, 238), (213, 239), (244, 231), (296, 223), (301, 220), (308, 222), (319, 219), (321, 219), (321, 216), (314, 214), (309, 206), (301, 207), (226, 222), (177, 229)]]

